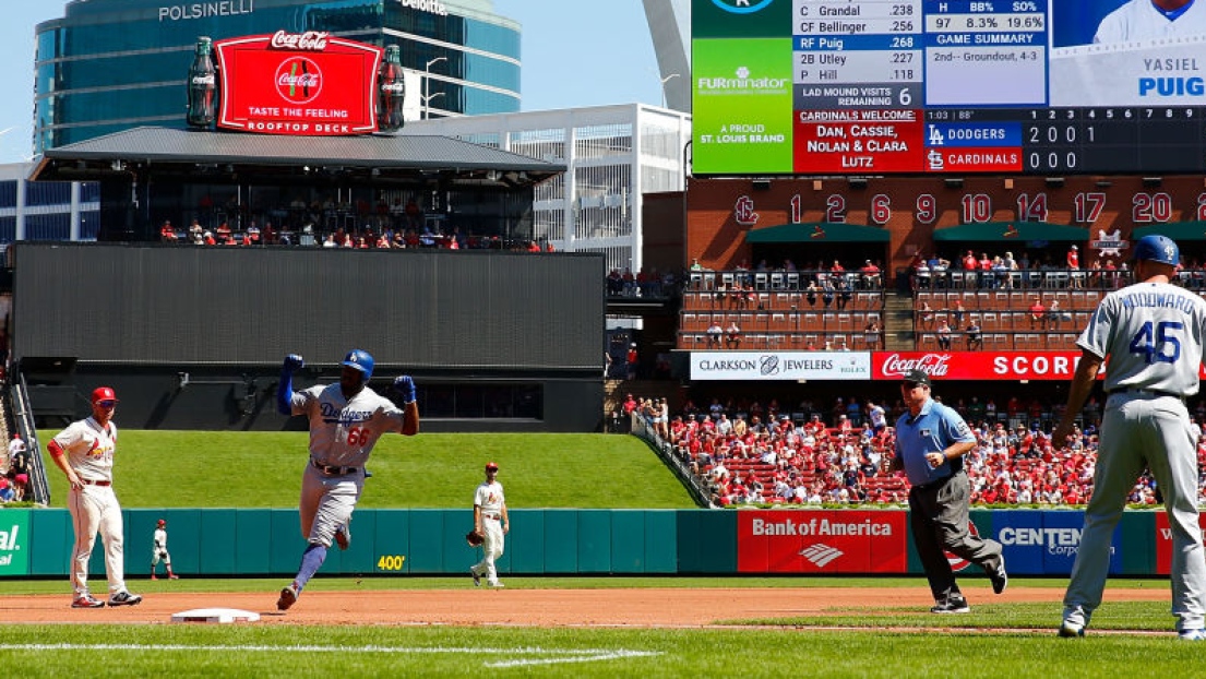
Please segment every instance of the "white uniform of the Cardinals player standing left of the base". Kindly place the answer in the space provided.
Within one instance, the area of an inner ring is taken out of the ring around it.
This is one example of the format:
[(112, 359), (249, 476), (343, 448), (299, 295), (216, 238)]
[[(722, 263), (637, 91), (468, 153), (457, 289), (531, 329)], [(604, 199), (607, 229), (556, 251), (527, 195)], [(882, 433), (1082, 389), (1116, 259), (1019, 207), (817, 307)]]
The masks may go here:
[(72, 422), (54, 437), (68, 464), (83, 481), (83, 487), (68, 496), (68, 511), (75, 527), (71, 551), (71, 586), (76, 597), (88, 595), (88, 560), (96, 543), (96, 532), (105, 543), (105, 573), (111, 593), (125, 591), (125, 564), (122, 548), (122, 508), (113, 494), (113, 450), (117, 426), (101, 427), (88, 417)]

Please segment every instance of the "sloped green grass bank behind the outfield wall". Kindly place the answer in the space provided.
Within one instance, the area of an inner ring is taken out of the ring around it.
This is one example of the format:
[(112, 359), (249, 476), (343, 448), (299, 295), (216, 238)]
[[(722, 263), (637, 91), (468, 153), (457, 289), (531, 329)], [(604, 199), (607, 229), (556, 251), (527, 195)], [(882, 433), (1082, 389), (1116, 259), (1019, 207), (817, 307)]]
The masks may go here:
[[(118, 421), (118, 426), (121, 422)], [(57, 431), (41, 431), (46, 441)], [(297, 507), (304, 432), (122, 429), (113, 487), (122, 507)], [(643, 441), (607, 434), (418, 434), (381, 438), (362, 508), (468, 508), (486, 462), (513, 508), (687, 509), (686, 490)], [(66, 478), (46, 460), (51, 505)]]

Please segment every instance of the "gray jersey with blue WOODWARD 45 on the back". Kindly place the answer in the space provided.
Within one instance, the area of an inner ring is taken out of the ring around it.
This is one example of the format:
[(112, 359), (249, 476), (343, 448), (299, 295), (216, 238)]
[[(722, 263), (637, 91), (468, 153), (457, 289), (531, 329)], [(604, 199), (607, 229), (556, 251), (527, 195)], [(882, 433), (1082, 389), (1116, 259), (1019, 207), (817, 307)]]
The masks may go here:
[(1206, 300), (1170, 283), (1135, 283), (1101, 300), (1076, 344), (1108, 357), (1106, 391), (1198, 393)]

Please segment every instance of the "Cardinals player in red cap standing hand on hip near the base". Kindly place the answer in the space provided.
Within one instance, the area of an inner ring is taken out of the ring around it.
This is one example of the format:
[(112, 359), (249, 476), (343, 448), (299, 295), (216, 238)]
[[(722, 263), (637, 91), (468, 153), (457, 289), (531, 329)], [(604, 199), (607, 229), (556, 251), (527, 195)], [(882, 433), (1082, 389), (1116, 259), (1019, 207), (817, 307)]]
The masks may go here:
[(96, 533), (105, 542), (105, 573), (109, 575), (109, 605), (134, 605), (142, 601), (125, 589), (125, 557), (122, 550), (122, 508), (113, 494), (113, 451), (117, 426), (113, 409), (117, 396), (110, 387), (92, 392), (92, 417), (72, 422), (46, 449), (54, 464), (71, 484), (68, 511), (75, 527), (71, 552), (71, 608), (103, 608), (105, 602), (88, 592), (88, 558)]

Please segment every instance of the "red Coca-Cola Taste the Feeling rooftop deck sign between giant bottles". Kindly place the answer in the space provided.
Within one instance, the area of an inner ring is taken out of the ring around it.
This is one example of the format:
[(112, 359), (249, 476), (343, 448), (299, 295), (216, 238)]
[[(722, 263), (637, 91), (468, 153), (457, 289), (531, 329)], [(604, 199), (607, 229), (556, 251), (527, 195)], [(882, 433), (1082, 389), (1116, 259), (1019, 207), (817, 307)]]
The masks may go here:
[(373, 87), (382, 49), (324, 31), (233, 37), (215, 43), (222, 72), (218, 127), (263, 134), (349, 135), (376, 130)]

